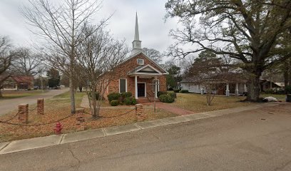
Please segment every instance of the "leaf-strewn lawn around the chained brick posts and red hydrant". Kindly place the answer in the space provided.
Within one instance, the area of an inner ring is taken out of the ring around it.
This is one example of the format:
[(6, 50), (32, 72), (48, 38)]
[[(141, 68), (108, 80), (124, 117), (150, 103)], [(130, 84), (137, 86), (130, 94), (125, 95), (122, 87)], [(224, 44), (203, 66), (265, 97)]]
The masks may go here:
[[(80, 108), (81, 100), (83, 95), (86, 93), (76, 93), (76, 108)], [(108, 103), (108, 102), (107, 102)], [(35, 105), (29, 106), (33, 109)], [(92, 119), (91, 115), (84, 114), (85, 118), (85, 128), (86, 129), (96, 129), (96, 128), (105, 128), (114, 125), (126, 125), (130, 123), (136, 123), (136, 113), (134, 106), (129, 106), (128, 108), (102, 108), (101, 116), (103, 117), (112, 117), (113, 118), (98, 118), (96, 120)], [(145, 107), (145, 120), (155, 120), (159, 118), (173, 117), (175, 114), (169, 113), (165, 110), (157, 109), (157, 112), (153, 113), (153, 108)], [(50, 100), (45, 101), (44, 115), (37, 115), (36, 110), (29, 112), (29, 125), (41, 124), (41, 123), (50, 123), (66, 116), (70, 116), (70, 100), (68, 93), (63, 93), (62, 95), (57, 95)], [(86, 109), (86, 113), (89, 113), (89, 110)], [(125, 115), (121, 115), (127, 113)], [(13, 111), (7, 115), (1, 116), (0, 120), (8, 120), (16, 114), (16, 111)], [(121, 115), (121, 116), (118, 116)], [(61, 120), (61, 125), (63, 125), (62, 133), (71, 133), (76, 131), (78, 125), (76, 125), (76, 118), (78, 115), (73, 115), (65, 120)], [(11, 123), (19, 123), (17, 117), (9, 121)], [(34, 138), (41, 137), (46, 135), (54, 134), (53, 128), (55, 123), (41, 126), (19, 126), (19, 125), (9, 125), (6, 123), (0, 123), (0, 142), (10, 141), (10, 140), (19, 140), (24, 138)]]

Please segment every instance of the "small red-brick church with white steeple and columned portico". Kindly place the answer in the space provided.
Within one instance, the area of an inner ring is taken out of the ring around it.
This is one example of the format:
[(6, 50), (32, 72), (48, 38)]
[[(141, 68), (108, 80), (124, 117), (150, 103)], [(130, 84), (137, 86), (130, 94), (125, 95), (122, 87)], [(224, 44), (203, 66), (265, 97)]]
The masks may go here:
[[(103, 81), (109, 81), (104, 95), (106, 99), (109, 93), (131, 92), (138, 100), (157, 96), (158, 91), (166, 90), (165, 75), (168, 72), (143, 52), (139, 40), (137, 17), (131, 56), (103, 77)], [(153, 86), (154, 80), (158, 80), (156, 87)]]

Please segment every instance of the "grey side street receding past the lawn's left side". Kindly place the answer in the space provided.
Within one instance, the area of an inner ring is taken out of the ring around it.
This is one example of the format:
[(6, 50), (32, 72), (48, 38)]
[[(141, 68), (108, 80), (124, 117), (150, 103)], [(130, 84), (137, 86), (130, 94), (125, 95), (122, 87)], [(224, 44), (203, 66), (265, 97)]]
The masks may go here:
[(65, 93), (68, 91), (68, 88), (61, 90), (49, 90), (46, 93), (39, 95), (31, 95), (24, 98), (13, 98), (7, 100), (0, 100), (0, 116), (9, 113), (11, 110), (17, 109), (17, 106), (21, 103), (28, 103), (29, 105), (36, 103), (38, 98), (44, 98), (45, 100), (49, 98), (53, 98), (55, 95), (59, 95), (61, 93)]

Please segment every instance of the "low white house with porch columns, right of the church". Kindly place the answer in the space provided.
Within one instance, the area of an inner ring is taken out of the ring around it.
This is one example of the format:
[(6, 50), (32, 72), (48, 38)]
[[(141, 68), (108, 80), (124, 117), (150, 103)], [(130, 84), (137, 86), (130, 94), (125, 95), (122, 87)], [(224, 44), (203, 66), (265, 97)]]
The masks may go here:
[[(211, 78), (210, 81), (217, 88), (213, 89), (218, 95), (242, 95), (247, 92), (246, 80), (238, 73), (228, 73), (224, 78)], [(208, 81), (205, 79), (204, 81)], [(184, 78), (181, 81), (181, 89), (189, 90), (191, 93), (205, 93), (203, 81), (198, 78)]]

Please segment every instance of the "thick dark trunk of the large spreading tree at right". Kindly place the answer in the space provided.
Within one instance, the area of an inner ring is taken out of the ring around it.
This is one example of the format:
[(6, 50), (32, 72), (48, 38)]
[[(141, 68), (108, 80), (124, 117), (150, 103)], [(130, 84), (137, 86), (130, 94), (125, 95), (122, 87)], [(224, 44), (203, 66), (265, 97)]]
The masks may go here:
[(247, 101), (257, 102), (260, 100), (260, 76), (262, 72), (251, 73), (247, 81)]

